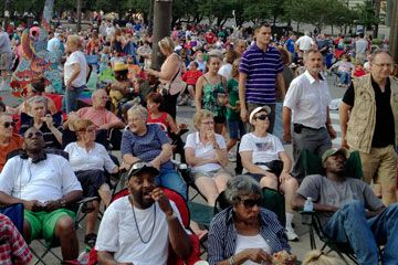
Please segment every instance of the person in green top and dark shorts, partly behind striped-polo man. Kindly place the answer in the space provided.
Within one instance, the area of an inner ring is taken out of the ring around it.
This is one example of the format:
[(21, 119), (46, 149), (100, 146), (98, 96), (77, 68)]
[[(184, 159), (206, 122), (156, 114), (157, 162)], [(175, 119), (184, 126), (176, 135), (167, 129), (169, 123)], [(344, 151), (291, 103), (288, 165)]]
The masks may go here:
[[(229, 131), (229, 141), (227, 142), (227, 151), (230, 151), (238, 140), (245, 134), (244, 125), (240, 117), (239, 102), (239, 64), (240, 59), (232, 63), (230, 80), (227, 81), (227, 89), (229, 92), (229, 104), (227, 104), (227, 125)], [(230, 161), (235, 161), (235, 156), (229, 153)]]

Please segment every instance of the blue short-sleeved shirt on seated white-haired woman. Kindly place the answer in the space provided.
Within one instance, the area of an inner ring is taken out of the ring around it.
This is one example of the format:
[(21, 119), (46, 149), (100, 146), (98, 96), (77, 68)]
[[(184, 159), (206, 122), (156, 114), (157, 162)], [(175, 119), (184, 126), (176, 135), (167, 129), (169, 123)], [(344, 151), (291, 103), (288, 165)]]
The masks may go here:
[[(129, 153), (150, 162), (159, 156), (165, 144), (169, 144), (169, 139), (158, 125), (147, 125), (147, 132), (144, 136), (137, 136), (127, 129), (122, 137), (122, 156)], [(172, 169), (171, 161), (161, 163), (160, 170), (163, 169)]]

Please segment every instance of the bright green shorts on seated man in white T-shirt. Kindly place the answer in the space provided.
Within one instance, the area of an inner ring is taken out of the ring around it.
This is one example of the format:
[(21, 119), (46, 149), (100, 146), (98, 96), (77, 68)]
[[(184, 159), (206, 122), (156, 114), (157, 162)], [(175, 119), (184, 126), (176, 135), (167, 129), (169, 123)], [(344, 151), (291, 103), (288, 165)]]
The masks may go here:
[(31, 212), (23, 210), (24, 219), (29, 222), (31, 226), (31, 237), (29, 239), (28, 244), (33, 240), (43, 237), (48, 246), (53, 243), (53, 235), (55, 230), (55, 224), (62, 216), (70, 216), (73, 221), (76, 221), (76, 215), (74, 212), (67, 209), (59, 209), (51, 213), (41, 211), (41, 212)]

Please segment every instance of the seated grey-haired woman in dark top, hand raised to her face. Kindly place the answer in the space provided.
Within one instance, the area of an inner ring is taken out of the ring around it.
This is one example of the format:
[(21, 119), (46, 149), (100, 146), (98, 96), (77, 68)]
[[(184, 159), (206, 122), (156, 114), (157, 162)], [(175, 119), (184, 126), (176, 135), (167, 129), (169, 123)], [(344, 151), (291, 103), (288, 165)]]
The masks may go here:
[(19, 134), (23, 135), (30, 127), (35, 127), (43, 132), (45, 148), (61, 148), (63, 128), (53, 120), (53, 116), (45, 114), (45, 98), (34, 96), (28, 100), (28, 110), (32, 115), (22, 120)]

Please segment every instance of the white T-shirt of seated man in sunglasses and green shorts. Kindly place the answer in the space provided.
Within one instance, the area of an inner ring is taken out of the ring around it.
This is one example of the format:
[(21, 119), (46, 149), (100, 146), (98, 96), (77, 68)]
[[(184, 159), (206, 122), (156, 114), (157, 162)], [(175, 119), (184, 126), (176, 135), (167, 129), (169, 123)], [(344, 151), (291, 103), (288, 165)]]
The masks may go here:
[(38, 163), (31, 159), (11, 158), (0, 174), (0, 191), (31, 201), (54, 201), (69, 192), (82, 190), (69, 161), (59, 156), (48, 153), (48, 158)]

